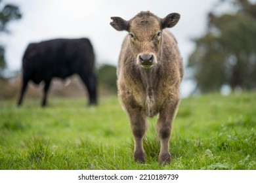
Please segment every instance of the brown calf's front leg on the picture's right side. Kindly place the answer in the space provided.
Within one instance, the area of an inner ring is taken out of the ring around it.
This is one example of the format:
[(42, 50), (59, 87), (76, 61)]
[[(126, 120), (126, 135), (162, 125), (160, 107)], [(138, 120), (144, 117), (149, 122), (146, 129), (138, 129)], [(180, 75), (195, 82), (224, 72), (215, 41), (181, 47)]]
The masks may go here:
[(160, 164), (171, 163), (171, 154), (169, 153), (169, 140), (171, 137), (171, 128), (173, 119), (177, 113), (177, 108), (179, 105), (179, 99), (165, 105), (163, 110), (160, 111), (158, 122), (156, 124), (156, 131), (158, 137), (160, 138), (160, 154), (158, 157), (158, 162)]

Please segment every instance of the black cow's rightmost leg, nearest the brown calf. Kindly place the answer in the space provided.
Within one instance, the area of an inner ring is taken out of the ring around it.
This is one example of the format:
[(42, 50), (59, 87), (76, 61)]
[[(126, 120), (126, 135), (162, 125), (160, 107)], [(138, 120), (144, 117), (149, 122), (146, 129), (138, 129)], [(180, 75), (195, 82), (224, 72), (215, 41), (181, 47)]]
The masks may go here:
[(79, 75), (89, 93), (89, 105), (96, 105), (96, 77), (95, 75)]

